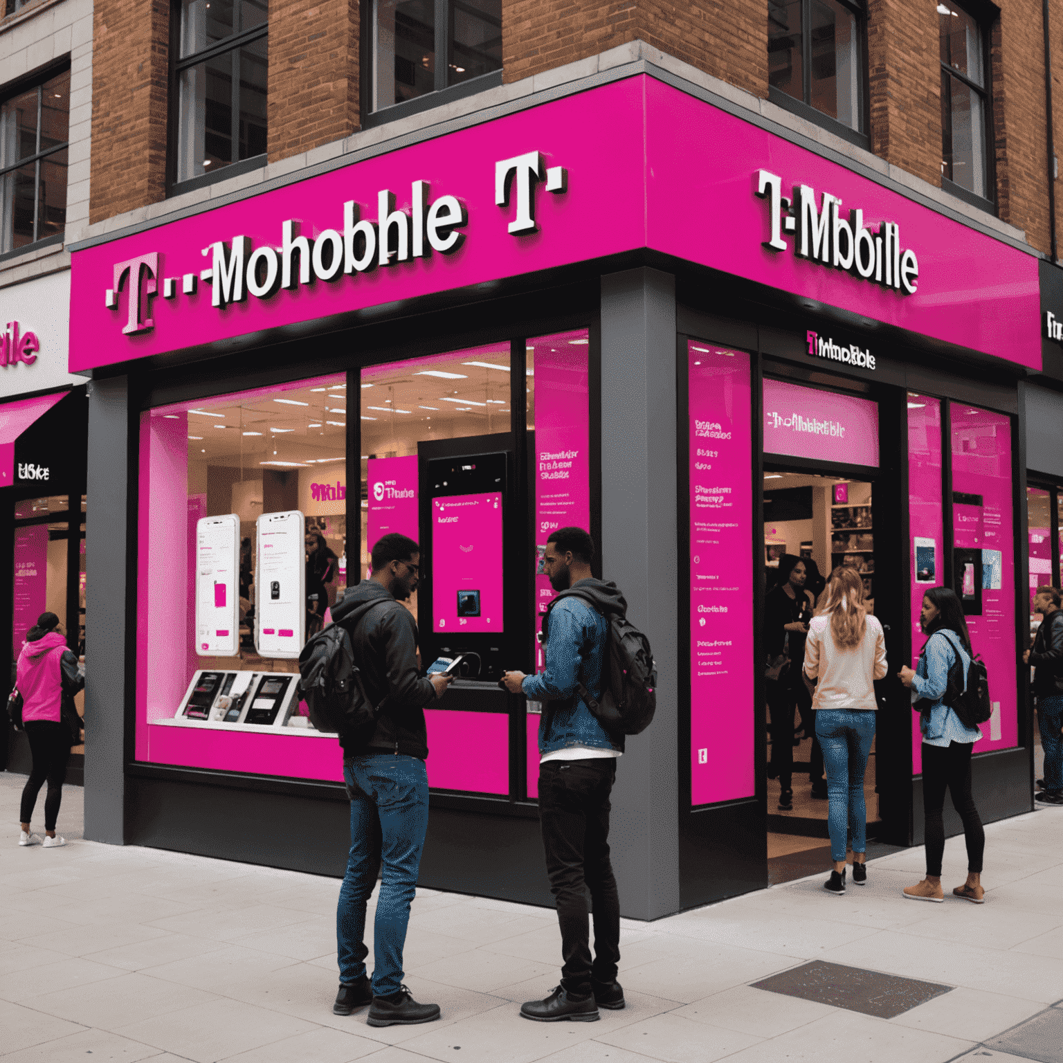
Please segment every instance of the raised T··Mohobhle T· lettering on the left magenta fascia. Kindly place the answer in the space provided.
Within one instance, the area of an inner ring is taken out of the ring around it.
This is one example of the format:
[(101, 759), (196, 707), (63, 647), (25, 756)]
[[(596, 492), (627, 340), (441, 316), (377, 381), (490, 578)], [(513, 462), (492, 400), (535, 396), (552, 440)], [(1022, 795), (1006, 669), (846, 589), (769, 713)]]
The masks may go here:
[[(546, 167), (539, 151), (525, 152), (494, 164), (494, 202), (516, 209), (508, 222), (511, 236), (535, 233), (535, 190), (542, 184), (546, 191), (568, 191), (568, 171), (562, 166)], [(242, 303), (249, 296), (271, 299), (282, 288), (297, 289), (314, 282), (333, 283), (344, 276), (356, 277), (383, 269), (426, 259), (433, 252), (454, 254), (465, 242), (462, 229), (469, 224), (469, 212), (456, 196), (432, 198), (427, 181), (410, 186), (409, 210), (395, 208), (395, 196), (381, 189), (376, 197), (376, 220), (361, 217), (354, 200), (343, 203), (343, 222), (337, 229), (324, 229), (316, 237), (302, 232), (294, 218), (281, 222), (277, 244), (255, 247), (247, 236), (215, 240), (202, 249), (209, 260), (206, 269), (163, 276), (159, 252), (138, 255), (114, 264), (112, 287), (104, 291), (104, 306), (117, 310), (119, 297), (126, 291), (126, 336), (155, 327), (149, 302), (162, 287), (163, 299), (195, 296), (199, 282), (210, 285), (210, 305), (219, 309)]]

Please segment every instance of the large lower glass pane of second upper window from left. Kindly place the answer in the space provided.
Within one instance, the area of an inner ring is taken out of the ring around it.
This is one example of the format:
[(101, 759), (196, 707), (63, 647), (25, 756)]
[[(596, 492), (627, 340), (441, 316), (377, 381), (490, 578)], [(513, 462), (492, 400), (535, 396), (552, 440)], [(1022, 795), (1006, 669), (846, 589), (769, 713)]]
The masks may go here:
[(183, 71), (178, 116), (178, 181), (233, 162), (233, 53)]

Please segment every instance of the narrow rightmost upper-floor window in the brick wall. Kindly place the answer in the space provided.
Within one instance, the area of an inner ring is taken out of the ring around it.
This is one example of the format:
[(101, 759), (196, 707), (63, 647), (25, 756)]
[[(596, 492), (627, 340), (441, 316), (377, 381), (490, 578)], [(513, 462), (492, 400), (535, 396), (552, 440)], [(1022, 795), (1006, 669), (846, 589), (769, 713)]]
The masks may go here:
[(941, 173), (982, 199), (990, 193), (985, 34), (955, 3), (938, 3), (941, 46)]

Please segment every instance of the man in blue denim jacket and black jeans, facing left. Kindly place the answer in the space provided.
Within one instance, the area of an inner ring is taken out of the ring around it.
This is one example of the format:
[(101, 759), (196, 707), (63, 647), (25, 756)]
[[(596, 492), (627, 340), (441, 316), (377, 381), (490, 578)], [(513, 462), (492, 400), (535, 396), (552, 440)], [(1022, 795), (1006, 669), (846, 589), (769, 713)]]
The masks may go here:
[[(539, 722), (539, 819), (550, 888), (561, 928), (561, 984), (544, 1000), (521, 1007), (525, 1018), (594, 1022), (598, 1008), (624, 1007), (617, 981), (620, 961), (620, 898), (609, 861), (609, 794), (624, 736), (613, 735), (579, 696), (602, 697), (608, 624), (605, 615), (626, 612), (615, 584), (591, 575), (594, 541), (583, 529), (551, 535), (543, 571), (566, 595), (550, 610), (543, 629), (546, 662), (538, 675), (507, 672), (503, 681), (517, 694), (542, 702)], [(594, 959), (591, 960), (587, 892), (594, 906)]]

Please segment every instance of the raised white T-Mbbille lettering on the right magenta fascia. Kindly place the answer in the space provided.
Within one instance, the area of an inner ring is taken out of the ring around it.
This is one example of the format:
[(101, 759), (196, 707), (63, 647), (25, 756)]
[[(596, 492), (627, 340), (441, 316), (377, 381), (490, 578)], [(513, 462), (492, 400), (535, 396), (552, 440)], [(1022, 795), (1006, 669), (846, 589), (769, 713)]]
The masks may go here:
[(813, 188), (796, 185), (792, 197), (783, 196), (782, 179), (767, 170), (757, 170), (754, 195), (767, 201), (771, 237), (763, 244), (769, 250), (788, 251), (782, 234), (793, 233), (798, 258), (845, 270), (902, 296), (915, 294), (919, 264), (914, 251), (901, 250), (900, 226), (895, 222), (864, 229), (863, 210), (849, 210), (846, 220), (841, 198), (831, 192), (822, 193), (816, 209)]

